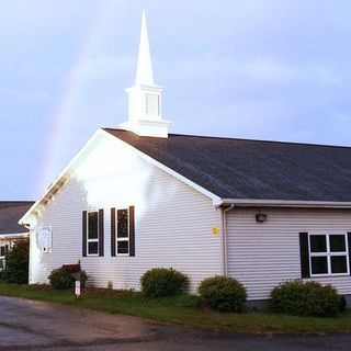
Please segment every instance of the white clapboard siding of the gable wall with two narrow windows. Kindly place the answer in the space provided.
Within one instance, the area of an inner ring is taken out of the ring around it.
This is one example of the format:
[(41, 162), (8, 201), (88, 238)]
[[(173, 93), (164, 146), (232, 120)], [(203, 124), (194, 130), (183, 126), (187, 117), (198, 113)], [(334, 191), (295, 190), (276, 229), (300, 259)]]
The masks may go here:
[[(111, 257), (111, 207), (135, 206), (135, 257)], [(82, 211), (104, 210), (104, 257), (82, 258)], [(34, 224), (35, 225), (35, 224)], [(106, 287), (139, 288), (152, 267), (172, 267), (188, 274), (191, 291), (199, 281), (222, 272), (222, 238), (212, 235), (220, 215), (210, 199), (131, 148), (105, 138), (47, 203), (38, 226), (53, 228), (53, 250), (37, 249), (31, 234), (31, 283), (46, 283), (49, 272), (81, 260), (90, 282)]]

